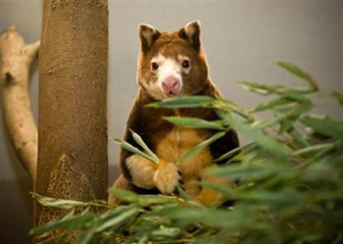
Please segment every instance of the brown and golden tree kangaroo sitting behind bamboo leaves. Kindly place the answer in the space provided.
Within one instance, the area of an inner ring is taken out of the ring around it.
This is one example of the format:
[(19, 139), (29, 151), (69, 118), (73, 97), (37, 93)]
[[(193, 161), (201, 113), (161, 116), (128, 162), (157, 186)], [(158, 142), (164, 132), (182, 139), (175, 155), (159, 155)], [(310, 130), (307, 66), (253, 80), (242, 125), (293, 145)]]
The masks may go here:
[[(213, 109), (156, 109), (146, 104), (183, 95), (219, 96), (208, 77), (208, 66), (200, 44), (200, 23), (189, 22), (176, 32), (159, 32), (154, 27), (139, 27), (141, 53), (138, 61), (138, 95), (131, 109), (124, 139), (140, 147), (129, 129), (137, 132), (158, 156), (158, 165), (121, 149), (122, 175), (114, 186), (140, 194), (171, 194), (182, 181), (185, 191), (205, 203), (218, 203), (220, 195), (210, 188), (201, 188), (200, 180), (227, 184), (222, 179), (203, 175), (215, 165), (213, 159), (238, 147), (234, 131), (214, 142), (209, 148), (176, 165), (178, 158), (192, 147), (211, 137), (215, 130), (188, 129), (173, 125), (163, 116), (218, 119)], [(219, 162), (221, 163), (221, 162)], [(115, 201), (110, 197), (110, 202)]]

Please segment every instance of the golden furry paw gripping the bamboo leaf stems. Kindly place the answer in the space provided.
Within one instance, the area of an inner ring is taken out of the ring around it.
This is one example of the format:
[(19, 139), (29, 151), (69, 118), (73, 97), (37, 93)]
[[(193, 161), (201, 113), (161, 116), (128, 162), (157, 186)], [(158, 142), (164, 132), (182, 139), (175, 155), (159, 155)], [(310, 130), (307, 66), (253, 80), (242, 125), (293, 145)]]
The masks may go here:
[(168, 163), (163, 159), (158, 160), (158, 166), (154, 174), (154, 184), (163, 194), (170, 195), (179, 184), (180, 176), (175, 164)]

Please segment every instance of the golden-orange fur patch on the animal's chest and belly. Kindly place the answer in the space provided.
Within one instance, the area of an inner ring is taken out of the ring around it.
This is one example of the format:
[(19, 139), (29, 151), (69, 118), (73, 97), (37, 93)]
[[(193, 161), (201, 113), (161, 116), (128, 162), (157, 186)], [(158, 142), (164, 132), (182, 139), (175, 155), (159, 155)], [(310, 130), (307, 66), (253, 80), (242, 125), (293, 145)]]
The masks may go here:
[[(158, 157), (176, 164), (182, 155), (203, 142), (207, 136), (208, 133), (205, 131), (174, 126), (171, 131), (159, 138), (156, 154)], [(210, 149), (205, 148), (180, 164), (179, 168), (184, 175), (200, 176), (202, 169), (211, 163)]]

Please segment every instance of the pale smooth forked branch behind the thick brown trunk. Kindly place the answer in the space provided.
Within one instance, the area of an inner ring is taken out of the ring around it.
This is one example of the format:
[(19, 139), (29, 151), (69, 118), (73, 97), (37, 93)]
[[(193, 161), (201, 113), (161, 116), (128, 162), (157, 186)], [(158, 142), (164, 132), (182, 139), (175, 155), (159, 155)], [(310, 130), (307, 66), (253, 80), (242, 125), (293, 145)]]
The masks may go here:
[(38, 58), (39, 41), (26, 45), (12, 26), (0, 37), (3, 117), (20, 162), (35, 180), (37, 127), (29, 98), (29, 81)]

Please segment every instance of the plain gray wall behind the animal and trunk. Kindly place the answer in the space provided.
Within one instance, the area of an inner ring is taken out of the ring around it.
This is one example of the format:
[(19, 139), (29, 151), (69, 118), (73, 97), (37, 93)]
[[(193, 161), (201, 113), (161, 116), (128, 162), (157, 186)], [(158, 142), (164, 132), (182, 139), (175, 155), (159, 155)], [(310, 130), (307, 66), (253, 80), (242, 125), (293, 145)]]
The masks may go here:
[[(0, 32), (15, 24), (26, 42), (40, 37), (39, 0), (0, 0)], [(211, 77), (223, 95), (245, 108), (263, 98), (241, 89), (237, 80), (301, 84), (270, 64), (291, 61), (317, 78), (324, 89), (343, 91), (343, 1), (109, 1), (108, 132), (120, 136), (137, 92), (137, 26), (150, 23), (175, 30), (200, 20)], [(31, 86), (37, 119), (37, 74)], [(316, 111), (342, 117), (338, 104), (320, 99)], [(1, 112), (0, 112), (1, 113)], [(110, 181), (118, 148), (109, 142)], [(31, 224), (30, 183), (0, 120), (0, 243), (27, 240)], [(5, 202), (6, 201), (6, 202)], [(6, 220), (6, 221), (3, 221)], [(13, 235), (13, 233), (16, 233)]]

